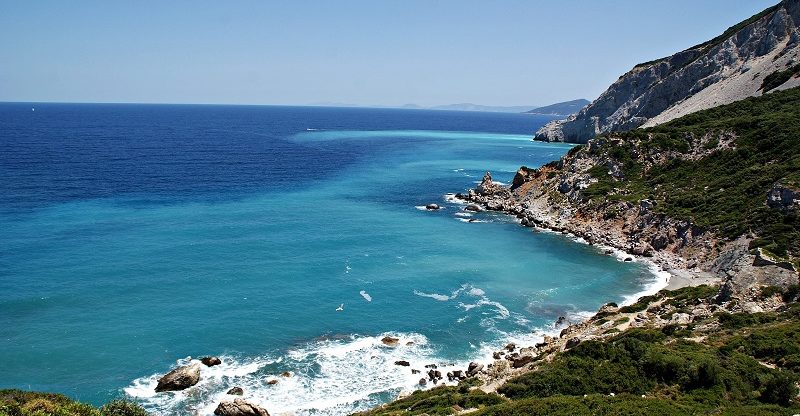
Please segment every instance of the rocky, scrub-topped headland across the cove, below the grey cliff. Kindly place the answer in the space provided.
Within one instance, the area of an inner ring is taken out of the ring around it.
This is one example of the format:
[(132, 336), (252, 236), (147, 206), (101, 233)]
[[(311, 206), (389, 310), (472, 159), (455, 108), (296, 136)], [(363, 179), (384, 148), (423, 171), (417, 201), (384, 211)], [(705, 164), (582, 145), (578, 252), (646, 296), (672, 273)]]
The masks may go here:
[(800, 88), (608, 133), (461, 197), (718, 279), (746, 305), (760, 286), (798, 284)]

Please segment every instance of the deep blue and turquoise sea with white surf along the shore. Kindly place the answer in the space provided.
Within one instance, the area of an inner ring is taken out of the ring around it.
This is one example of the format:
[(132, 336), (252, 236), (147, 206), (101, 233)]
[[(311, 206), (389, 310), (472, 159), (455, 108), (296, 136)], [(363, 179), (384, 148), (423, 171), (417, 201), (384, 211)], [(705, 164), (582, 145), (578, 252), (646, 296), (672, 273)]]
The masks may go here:
[[(642, 264), (448, 202), (564, 154), (530, 140), (546, 121), (0, 104), (0, 388), (206, 415), (240, 386), (347, 414), (415, 388), (395, 360), (464, 366), (648, 290)], [(197, 386), (153, 391), (204, 355), (223, 364)]]

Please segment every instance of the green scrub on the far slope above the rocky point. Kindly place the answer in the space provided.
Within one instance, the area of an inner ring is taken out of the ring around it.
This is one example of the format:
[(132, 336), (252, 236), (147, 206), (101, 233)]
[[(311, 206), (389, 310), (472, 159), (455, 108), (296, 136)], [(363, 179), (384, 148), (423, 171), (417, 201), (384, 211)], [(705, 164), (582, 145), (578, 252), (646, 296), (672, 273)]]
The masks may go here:
[[(731, 146), (717, 148), (722, 135), (735, 136)], [(722, 237), (754, 232), (753, 247), (779, 257), (800, 254), (800, 215), (766, 205), (776, 183), (800, 183), (800, 88), (599, 141), (603, 144), (594, 146), (592, 154), (619, 163), (624, 179), (612, 178), (605, 166), (593, 168), (598, 182), (584, 193), (592, 203), (650, 199), (656, 212), (690, 220)], [(697, 160), (680, 157), (696, 148), (708, 154)], [(665, 151), (675, 157), (652, 166), (634, 156)]]

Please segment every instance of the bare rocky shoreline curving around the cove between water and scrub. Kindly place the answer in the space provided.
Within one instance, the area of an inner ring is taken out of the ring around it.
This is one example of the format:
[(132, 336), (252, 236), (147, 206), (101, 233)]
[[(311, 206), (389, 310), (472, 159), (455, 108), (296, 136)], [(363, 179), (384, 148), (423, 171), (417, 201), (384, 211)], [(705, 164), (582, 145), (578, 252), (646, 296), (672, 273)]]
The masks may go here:
[[(604, 210), (587, 215), (585, 207), (576, 201), (591, 179), (581, 175), (579, 169), (564, 169), (570, 164), (565, 158), (566, 163), (562, 159), (540, 169), (521, 167), (509, 187), (494, 182), (491, 173), (486, 172), (475, 189), (453, 195), (451, 202), (465, 204), (463, 210), (473, 214), (494, 211), (515, 217), (525, 227), (569, 235), (598, 246), (608, 255), (624, 253), (622, 261), (641, 261), (668, 273), (665, 290), (640, 298), (635, 307), (606, 304), (582, 322), (570, 323), (561, 317), (554, 324), (556, 330), (560, 328), (559, 335), (544, 335), (539, 344), (506, 345), (493, 353), (492, 362), (481, 364), (474, 373), (482, 382), (481, 390), (496, 392), (507, 380), (535, 371), (539, 363), (552, 360), (559, 352), (586, 340), (609, 338), (628, 328), (688, 325), (716, 313), (774, 311), (783, 305), (778, 298), (761, 297), (758, 288), (769, 283), (781, 285), (787, 276), (789, 281), (796, 280), (796, 272), (784, 270), (789, 273), (765, 279), (779, 265), (762, 260), (760, 253), (752, 255), (746, 237), (720, 242), (712, 233), (691, 223), (655, 213), (654, 203), (647, 200), (638, 206), (626, 204), (626, 209), (614, 218), (603, 215)], [(554, 203), (554, 199), (560, 203)], [(690, 310), (679, 310), (670, 304), (669, 291), (696, 286), (713, 290), (715, 301), (697, 303)]]

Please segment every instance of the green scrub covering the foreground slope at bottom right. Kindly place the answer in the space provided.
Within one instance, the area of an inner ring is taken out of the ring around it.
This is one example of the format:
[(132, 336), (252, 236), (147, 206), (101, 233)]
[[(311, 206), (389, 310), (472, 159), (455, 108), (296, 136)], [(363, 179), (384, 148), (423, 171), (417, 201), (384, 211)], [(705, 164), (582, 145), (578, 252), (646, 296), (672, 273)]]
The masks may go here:
[[(658, 296), (664, 304), (686, 307), (715, 293), (699, 286)], [(438, 387), (365, 415), (455, 414), (467, 408), (480, 416), (795, 414), (798, 317), (800, 305), (791, 303), (777, 313), (718, 314), (704, 322), (712, 328), (704, 331), (711, 332), (628, 329), (541, 362), (536, 371), (501, 386), (500, 395), (466, 385)], [(706, 341), (694, 341), (698, 335)]]

